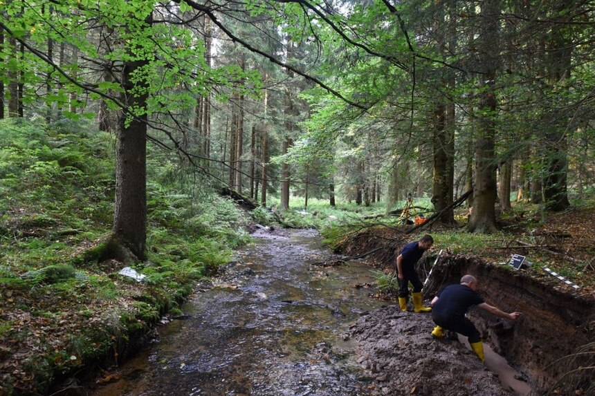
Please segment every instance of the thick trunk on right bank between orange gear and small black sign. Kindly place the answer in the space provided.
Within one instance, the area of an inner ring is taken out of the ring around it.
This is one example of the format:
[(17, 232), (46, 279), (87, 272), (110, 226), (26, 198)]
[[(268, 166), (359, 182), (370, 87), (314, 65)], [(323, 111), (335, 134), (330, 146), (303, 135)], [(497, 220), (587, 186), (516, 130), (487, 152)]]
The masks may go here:
[(469, 219), (470, 232), (491, 233), (496, 231), (495, 216), (495, 78), (497, 70), (498, 19), (497, 4), (493, 0), (482, 3), (482, 35), (477, 47), (481, 57), (482, 73), (479, 83), (478, 133), (475, 145), (475, 187), (473, 211)]

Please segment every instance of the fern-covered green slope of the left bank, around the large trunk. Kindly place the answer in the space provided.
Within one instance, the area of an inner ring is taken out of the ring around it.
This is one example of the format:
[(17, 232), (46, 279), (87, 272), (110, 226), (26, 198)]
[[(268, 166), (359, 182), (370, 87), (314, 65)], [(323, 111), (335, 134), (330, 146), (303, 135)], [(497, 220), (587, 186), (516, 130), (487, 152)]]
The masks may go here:
[[(250, 241), (234, 202), (148, 147), (147, 259), (113, 259), (113, 135), (0, 120), (0, 394), (118, 361)], [(19, 355), (16, 352), (19, 351)], [(18, 357), (17, 357), (18, 356)]]

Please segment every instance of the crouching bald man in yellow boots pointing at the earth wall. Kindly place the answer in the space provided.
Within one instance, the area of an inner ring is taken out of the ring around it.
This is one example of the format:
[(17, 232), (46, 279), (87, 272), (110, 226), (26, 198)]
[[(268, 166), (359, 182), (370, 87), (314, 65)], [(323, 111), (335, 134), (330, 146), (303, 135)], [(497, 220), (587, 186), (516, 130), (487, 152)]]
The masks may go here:
[(489, 305), (479, 296), (477, 292), (477, 280), (472, 275), (465, 275), (461, 278), (459, 285), (449, 285), (443, 288), (437, 296), (432, 299), (432, 319), (438, 326), (432, 330), (432, 337), (444, 337), (444, 330), (458, 332), (469, 339), (469, 345), (479, 359), (485, 361), (484, 344), (477, 328), (465, 317), (465, 313), (471, 305), (477, 305), (504, 319), (517, 319), (520, 312), (506, 312)]

